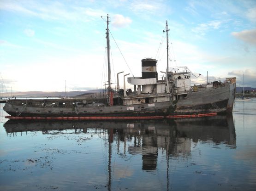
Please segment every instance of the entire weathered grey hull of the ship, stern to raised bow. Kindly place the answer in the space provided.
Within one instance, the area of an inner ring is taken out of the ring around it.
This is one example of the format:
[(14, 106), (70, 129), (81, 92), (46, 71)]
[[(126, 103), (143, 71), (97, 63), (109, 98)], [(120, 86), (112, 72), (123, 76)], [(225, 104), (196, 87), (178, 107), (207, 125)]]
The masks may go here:
[[(218, 89), (191, 92), (175, 106), (170, 101), (129, 106), (52, 105), (35, 104), (33, 100), (8, 100), (4, 110), (20, 117), (89, 117), (89, 116), (168, 116), (208, 112), (232, 112), (235, 86), (228, 84)], [(66, 99), (68, 100), (68, 99)], [(25, 102), (26, 101), (26, 102)], [(43, 100), (42, 100), (43, 101)], [(62, 102), (65, 100), (62, 100)], [(23, 103), (22, 103), (23, 102)], [(38, 100), (37, 100), (38, 102)], [(26, 103), (24, 105), (24, 103)]]

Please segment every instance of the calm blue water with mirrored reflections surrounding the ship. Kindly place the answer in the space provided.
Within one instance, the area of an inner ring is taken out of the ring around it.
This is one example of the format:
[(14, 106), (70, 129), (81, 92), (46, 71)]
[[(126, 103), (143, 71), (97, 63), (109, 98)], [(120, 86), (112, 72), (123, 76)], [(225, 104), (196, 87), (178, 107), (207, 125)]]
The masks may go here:
[(156, 121), (15, 121), (3, 106), (1, 191), (256, 188), (256, 99), (230, 116)]

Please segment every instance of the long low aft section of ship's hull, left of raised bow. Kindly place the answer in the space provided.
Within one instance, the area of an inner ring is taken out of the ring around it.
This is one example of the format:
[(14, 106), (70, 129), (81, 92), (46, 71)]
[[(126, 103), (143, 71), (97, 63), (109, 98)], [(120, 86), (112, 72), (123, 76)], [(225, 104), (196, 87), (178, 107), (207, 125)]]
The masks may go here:
[[(4, 110), (11, 116), (31, 117), (89, 117), (89, 116), (165, 116), (167, 109), (171, 106), (169, 101), (150, 104), (137, 104), (132, 106), (81, 106), (74, 107), (32, 107), (19, 106), (7, 101)], [(20, 111), (24, 110), (20, 113)], [(50, 111), (50, 112), (49, 112)]]

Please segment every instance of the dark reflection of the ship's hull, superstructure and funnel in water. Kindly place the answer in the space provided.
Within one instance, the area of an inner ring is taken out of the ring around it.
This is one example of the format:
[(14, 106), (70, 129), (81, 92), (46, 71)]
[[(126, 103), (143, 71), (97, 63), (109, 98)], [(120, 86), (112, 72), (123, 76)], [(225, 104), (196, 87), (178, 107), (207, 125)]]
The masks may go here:
[[(107, 130), (111, 143), (124, 143), (124, 154), (142, 154), (143, 169), (156, 168), (158, 149), (167, 151), (167, 155), (178, 156), (190, 153), (191, 140), (236, 146), (236, 134), (232, 115), (212, 116), (207, 118), (179, 118), (166, 120), (135, 121), (31, 121), (8, 120), (4, 124), (7, 136), (22, 135), (28, 131), (42, 131), (48, 134), (53, 130), (58, 133), (87, 133), (88, 129)], [(65, 131), (64, 131), (65, 130)], [(68, 130), (68, 131), (67, 131)], [(125, 142), (133, 142), (128, 147)]]

